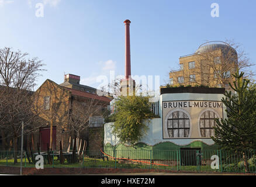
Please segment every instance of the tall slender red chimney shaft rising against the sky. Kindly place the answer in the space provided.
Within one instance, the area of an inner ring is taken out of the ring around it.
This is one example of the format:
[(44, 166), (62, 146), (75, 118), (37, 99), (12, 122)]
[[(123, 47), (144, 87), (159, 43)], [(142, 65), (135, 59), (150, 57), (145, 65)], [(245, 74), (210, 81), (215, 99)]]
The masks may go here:
[(130, 20), (124, 21), (125, 25), (125, 78), (131, 75), (131, 51), (130, 51)]

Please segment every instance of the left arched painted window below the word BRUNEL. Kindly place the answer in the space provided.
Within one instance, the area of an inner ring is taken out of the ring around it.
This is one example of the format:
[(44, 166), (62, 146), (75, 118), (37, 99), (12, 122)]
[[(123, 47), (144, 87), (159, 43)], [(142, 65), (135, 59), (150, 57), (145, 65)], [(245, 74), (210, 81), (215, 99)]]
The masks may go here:
[(190, 119), (181, 110), (169, 114), (167, 119), (167, 131), (170, 138), (189, 137)]

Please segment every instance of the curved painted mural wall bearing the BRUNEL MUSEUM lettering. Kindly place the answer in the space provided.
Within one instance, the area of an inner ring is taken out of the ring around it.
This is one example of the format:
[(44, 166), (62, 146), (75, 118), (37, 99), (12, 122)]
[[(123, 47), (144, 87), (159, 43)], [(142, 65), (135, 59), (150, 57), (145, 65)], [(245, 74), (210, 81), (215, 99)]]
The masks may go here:
[(112, 134), (112, 124), (104, 126), (105, 149), (158, 149), (177, 150), (181, 147), (214, 149), (216, 145), (212, 127), (215, 118), (225, 118), (223, 94), (164, 93), (160, 96), (160, 118), (146, 120), (148, 132), (135, 147), (120, 144)]

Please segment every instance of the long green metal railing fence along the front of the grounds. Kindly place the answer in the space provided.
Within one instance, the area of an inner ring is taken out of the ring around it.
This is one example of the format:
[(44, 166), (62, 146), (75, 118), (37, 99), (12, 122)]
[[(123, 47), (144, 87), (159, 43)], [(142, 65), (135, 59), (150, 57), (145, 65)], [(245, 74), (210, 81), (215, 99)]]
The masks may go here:
[[(15, 159), (16, 155), (16, 159)], [(40, 155), (40, 158), (38, 157)], [(22, 167), (44, 168), (143, 168), (193, 172), (256, 173), (255, 150), (97, 150), (84, 153), (23, 151)], [(20, 167), (20, 151), (0, 151), (0, 167)], [(246, 162), (245, 162), (246, 161)], [(247, 163), (247, 164), (246, 164)]]

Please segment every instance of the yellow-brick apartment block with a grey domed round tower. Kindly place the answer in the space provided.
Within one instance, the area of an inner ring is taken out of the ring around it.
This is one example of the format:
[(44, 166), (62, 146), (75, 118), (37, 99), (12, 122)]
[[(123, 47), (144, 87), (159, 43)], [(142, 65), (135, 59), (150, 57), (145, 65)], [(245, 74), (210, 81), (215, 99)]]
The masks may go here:
[(179, 57), (179, 70), (169, 72), (169, 85), (207, 85), (230, 90), (237, 71), (237, 52), (223, 41), (210, 41), (195, 53)]

